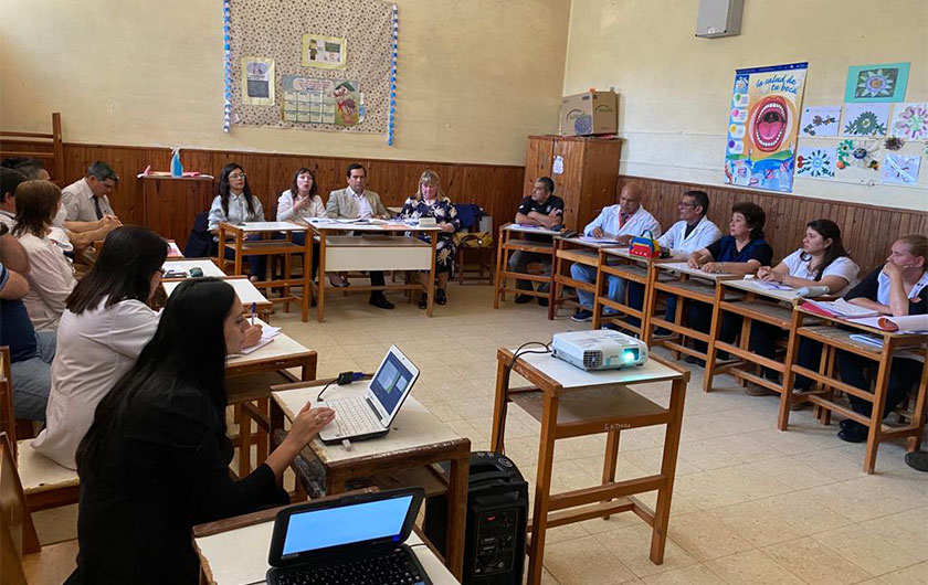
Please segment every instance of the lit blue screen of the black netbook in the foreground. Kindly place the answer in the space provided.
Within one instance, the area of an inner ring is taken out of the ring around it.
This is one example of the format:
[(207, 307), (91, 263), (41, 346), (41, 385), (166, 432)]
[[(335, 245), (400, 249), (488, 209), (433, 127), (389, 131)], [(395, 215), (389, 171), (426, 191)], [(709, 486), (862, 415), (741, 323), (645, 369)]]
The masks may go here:
[(282, 559), (371, 540), (400, 542), (412, 498), (410, 494), (295, 513), (289, 517)]

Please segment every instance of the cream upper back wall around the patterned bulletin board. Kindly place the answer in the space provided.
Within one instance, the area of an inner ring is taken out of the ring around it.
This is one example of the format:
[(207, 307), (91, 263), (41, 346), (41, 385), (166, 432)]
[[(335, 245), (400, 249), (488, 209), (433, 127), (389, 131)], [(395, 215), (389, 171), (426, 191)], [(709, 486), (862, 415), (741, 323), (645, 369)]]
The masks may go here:
[(523, 164), (557, 131), (570, 0), (396, 0), (397, 135), (222, 132), (221, 0), (3, 0), (0, 125), (67, 142)]

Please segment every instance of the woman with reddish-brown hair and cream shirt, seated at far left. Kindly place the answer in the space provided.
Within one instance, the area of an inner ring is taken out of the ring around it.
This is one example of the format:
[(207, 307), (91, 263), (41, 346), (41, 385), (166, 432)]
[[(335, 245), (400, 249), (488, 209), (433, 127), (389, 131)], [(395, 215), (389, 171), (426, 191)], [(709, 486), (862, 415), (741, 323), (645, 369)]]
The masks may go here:
[(29, 295), (23, 302), (36, 331), (54, 330), (64, 301), (77, 281), (64, 252), (49, 237), (61, 206), (61, 189), (51, 181), (24, 181), (17, 187), (13, 236), (29, 255)]

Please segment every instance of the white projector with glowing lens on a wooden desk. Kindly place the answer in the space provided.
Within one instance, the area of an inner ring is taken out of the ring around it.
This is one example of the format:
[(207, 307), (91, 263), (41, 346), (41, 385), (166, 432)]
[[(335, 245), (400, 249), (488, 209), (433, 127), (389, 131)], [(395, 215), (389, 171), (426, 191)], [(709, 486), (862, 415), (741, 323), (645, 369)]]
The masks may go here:
[(555, 333), (551, 354), (583, 370), (618, 370), (647, 361), (647, 345), (619, 331)]

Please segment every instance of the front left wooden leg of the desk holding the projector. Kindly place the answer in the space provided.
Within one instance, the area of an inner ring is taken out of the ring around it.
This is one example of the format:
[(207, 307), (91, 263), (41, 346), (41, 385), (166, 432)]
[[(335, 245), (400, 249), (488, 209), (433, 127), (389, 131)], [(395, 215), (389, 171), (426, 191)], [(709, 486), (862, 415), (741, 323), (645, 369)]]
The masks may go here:
[(555, 434), (558, 426), (560, 398), (545, 392), (541, 415), (541, 443), (538, 448), (538, 467), (535, 478), (535, 508), (531, 512), (531, 542), (528, 545), (527, 585), (541, 583), (545, 559), (545, 536), (548, 531), (548, 510), (551, 500), (551, 464), (555, 459)]

